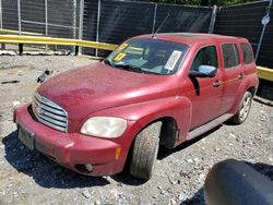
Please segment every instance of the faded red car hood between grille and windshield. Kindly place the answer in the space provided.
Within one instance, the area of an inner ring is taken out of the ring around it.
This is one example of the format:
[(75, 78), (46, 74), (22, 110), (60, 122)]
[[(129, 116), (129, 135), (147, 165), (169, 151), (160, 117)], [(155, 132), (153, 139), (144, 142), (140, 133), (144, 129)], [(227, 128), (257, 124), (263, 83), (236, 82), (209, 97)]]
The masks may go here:
[(73, 130), (95, 111), (176, 95), (169, 80), (98, 62), (52, 76), (37, 92), (68, 112)]

